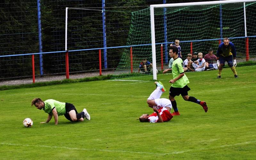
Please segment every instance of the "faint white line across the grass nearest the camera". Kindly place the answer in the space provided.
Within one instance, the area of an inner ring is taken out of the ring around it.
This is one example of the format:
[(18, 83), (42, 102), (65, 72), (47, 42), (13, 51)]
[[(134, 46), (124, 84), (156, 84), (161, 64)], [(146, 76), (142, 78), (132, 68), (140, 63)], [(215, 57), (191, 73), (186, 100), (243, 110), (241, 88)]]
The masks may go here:
[(184, 151), (178, 151), (178, 152), (169, 152), (169, 153), (154, 153), (154, 152), (132, 152), (132, 151), (126, 151), (126, 150), (104, 150), (104, 149), (86, 149), (86, 148), (71, 148), (71, 147), (59, 147), (59, 146), (46, 146), (46, 145), (29, 145), (29, 144), (14, 144), (14, 143), (0, 143), (1, 145), (8, 145), (8, 146), (24, 146), (24, 147), (44, 147), (44, 148), (60, 148), (60, 149), (68, 149), (68, 150), (92, 150), (92, 151), (100, 151), (100, 152), (116, 152), (116, 153), (132, 153), (132, 154), (149, 154), (149, 155), (171, 155), (171, 154), (180, 154), (185, 152), (195, 152), (198, 150), (211, 150), (214, 148), (225, 148), (230, 146), (236, 146), (236, 145), (246, 145), (250, 143), (256, 143), (256, 141), (248, 141), (243, 143), (236, 143), (236, 144), (228, 144), (228, 145), (221, 145), (216, 147), (210, 147), (210, 148), (201, 148), (201, 149), (195, 149), (195, 150), (184, 150)]

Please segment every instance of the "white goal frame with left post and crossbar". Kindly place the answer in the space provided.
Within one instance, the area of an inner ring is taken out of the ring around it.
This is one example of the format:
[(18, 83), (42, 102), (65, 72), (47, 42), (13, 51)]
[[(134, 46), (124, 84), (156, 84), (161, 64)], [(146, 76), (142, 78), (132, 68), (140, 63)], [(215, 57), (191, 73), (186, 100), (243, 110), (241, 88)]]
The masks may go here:
[[(153, 79), (157, 80), (157, 77), (156, 77), (156, 41), (155, 41), (154, 8), (169, 8), (169, 7), (194, 6), (194, 5), (211, 5), (211, 4), (226, 4), (226, 3), (244, 3), (245, 4), (246, 2), (256, 2), (256, 0), (226, 0), (226, 1), (172, 3), (172, 4), (153, 4), (153, 5), (150, 5)], [(246, 34), (246, 22), (245, 22), (245, 34)]]

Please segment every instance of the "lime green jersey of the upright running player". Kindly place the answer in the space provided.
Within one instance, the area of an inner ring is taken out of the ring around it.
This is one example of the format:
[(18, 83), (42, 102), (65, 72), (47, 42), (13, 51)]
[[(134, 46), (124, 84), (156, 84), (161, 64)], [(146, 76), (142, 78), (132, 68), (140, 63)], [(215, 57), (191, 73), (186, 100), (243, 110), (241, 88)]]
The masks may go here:
[[(183, 70), (183, 61), (181, 58), (176, 58), (174, 59), (173, 63), (172, 63), (172, 76), (173, 79), (175, 79), (176, 77), (178, 77), (180, 75), (180, 73), (184, 73)], [(175, 88), (183, 88), (185, 87), (187, 84), (189, 83), (188, 81), (188, 77), (186, 76), (186, 74), (184, 74), (183, 77), (181, 77), (179, 80), (175, 81), (172, 84), (172, 87)]]

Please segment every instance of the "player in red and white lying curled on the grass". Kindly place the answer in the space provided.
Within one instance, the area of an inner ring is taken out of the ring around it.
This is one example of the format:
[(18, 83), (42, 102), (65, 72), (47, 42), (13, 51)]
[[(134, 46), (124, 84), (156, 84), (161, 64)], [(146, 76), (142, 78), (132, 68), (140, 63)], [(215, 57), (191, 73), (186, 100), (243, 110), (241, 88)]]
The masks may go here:
[(166, 98), (160, 98), (165, 91), (164, 85), (161, 82), (155, 82), (156, 89), (148, 97), (148, 106), (155, 111), (151, 115), (143, 114), (140, 116), (140, 122), (167, 122), (172, 119), (170, 110), (172, 103)]

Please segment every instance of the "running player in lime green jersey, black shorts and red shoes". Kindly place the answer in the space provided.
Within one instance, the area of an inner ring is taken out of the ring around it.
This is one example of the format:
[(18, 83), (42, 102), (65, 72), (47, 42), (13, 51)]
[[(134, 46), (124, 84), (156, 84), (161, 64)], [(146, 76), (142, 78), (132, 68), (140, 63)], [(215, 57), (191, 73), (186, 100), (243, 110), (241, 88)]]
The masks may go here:
[(195, 97), (188, 96), (188, 91), (190, 90), (190, 88), (187, 86), (187, 84), (189, 83), (189, 81), (183, 70), (183, 61), (181, 58), (178, 57), (177, 47), (170, 46), (169, 55), (171, 56), (171, 58), (174, 59), (172, 63), (173, 79), (169, 81), (170, 83), (172, 83), (169, 91), (169, 99), (172, 103), (172, 108), (174, 109), (172, 115), (180, 115), (177, 108), (177, 103), (174, 99), (176, 95), (178, 96), (180, 94), (185, 101), (191, 101), (200, 104), (204, 108), (204, 111), (207, 112), (208, 108), (205, 101), (200, 101)]

